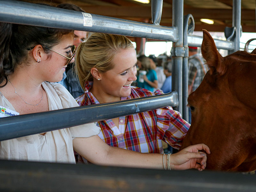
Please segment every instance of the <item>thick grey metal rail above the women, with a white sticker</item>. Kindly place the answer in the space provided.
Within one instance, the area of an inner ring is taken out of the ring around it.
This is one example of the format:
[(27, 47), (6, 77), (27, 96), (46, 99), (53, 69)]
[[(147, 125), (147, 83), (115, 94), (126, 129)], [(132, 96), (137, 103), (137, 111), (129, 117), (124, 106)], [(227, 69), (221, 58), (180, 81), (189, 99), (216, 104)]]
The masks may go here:
[(165, 27), (95, 14), (84, 16), (82, 12), (14, 0), (0, 1), (0, 21), (177, 41), (176, 27)]

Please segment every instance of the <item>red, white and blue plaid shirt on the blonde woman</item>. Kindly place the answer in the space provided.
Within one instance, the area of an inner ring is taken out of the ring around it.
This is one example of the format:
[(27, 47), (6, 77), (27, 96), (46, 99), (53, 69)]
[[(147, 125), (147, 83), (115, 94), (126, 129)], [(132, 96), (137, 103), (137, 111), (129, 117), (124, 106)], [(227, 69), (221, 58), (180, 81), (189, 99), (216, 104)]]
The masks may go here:
[[(89, 92), (91, 86), (92, 82), (85, 83), (85, 93), (76, 98), (80, 106), (99, 104)], [(159, 94), (163, 92), (157, 90), (153, 93), (139, 87), (131, 87), (131, 94), (121, 100)], [(172, 107), (164, 107), (119, 117), (119, 127), (116, 127), (111, 119), (100, 121), (97, 126), (101, 128), (100, 138), (110, 146), (142, 153), (163, 153), (161, 140), (174, 148), (180, 148), (190, 125)]]

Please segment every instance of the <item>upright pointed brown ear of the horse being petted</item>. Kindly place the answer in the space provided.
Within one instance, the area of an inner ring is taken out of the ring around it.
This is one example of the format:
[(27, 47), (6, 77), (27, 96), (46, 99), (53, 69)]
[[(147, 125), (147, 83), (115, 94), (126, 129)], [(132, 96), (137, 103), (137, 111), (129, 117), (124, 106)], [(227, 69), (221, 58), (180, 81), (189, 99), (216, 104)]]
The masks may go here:
[(218, 52), (214, 40), (210, 33), (203, 29), (202, 55), (210, 68), (211, 74), (216, 71), (220, 75), (224, 75), (227, 71), (227, 66), (224, 63), (223, 57)]

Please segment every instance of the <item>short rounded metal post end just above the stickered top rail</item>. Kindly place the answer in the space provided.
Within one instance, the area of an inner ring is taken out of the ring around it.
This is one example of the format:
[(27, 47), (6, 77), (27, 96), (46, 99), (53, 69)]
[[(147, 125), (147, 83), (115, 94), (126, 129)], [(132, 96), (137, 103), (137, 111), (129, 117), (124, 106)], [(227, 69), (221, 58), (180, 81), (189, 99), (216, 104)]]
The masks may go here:
[(151, 16), (152, 22), (159, 25), (162, 16), (163, 0), (151, 0)]

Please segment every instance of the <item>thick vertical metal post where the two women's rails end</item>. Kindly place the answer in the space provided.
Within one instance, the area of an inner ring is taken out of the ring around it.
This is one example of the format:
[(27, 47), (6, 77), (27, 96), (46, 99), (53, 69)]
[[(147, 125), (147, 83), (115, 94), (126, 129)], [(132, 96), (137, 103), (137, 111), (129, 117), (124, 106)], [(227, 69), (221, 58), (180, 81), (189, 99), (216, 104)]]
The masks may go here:
[(178, 92), (179, 106), (174, 108), (182, 115), (182, 58), (183, 47), (183, 0), (172, 1), (172, 26), (178, 29), (178, 41), (172, 43), (172, 91)]

